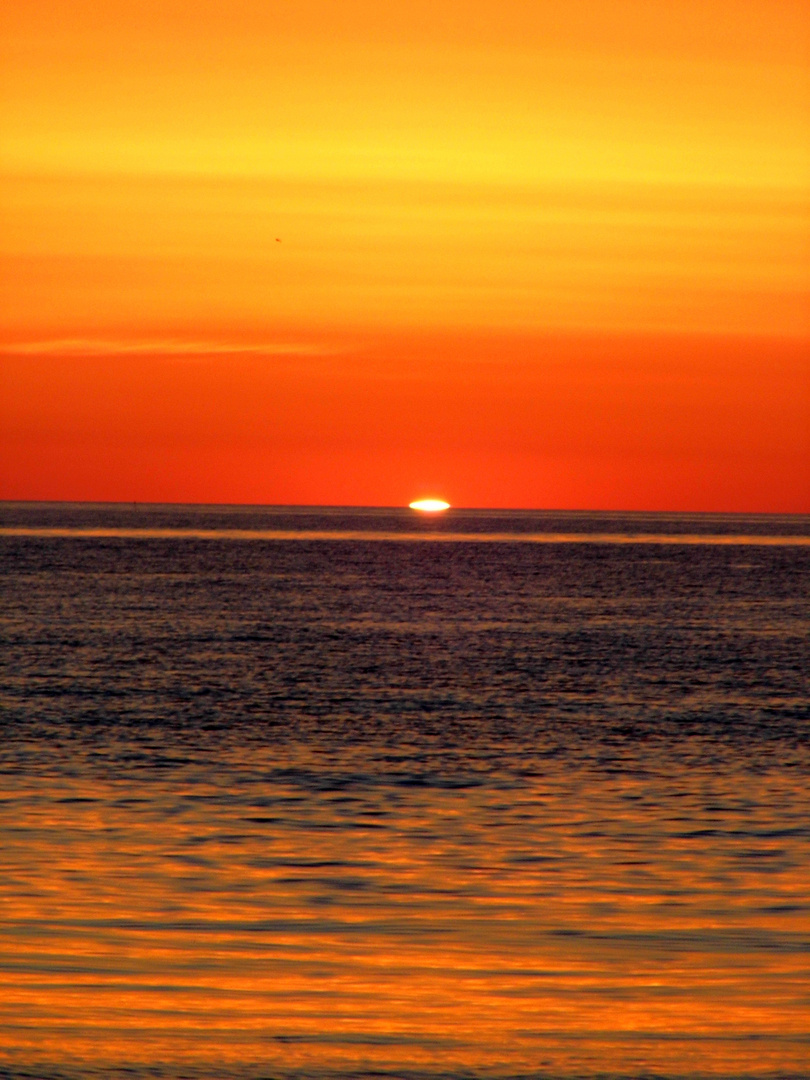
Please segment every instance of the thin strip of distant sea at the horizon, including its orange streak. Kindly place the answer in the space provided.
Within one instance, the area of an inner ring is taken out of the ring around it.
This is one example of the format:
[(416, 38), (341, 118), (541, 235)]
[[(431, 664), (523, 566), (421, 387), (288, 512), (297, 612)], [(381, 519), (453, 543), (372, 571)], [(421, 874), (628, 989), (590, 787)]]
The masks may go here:
[(806, 544), (810, 514), (5, 501), (0, 536)]

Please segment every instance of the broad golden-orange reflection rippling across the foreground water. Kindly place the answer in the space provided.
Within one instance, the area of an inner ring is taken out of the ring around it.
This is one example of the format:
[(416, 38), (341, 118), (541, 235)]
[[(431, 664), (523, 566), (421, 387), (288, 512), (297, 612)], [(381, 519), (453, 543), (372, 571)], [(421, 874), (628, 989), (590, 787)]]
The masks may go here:
[(284, 754), (4, 780), (0, 1064), (810, 1066), (789, 774), (313, 788)]

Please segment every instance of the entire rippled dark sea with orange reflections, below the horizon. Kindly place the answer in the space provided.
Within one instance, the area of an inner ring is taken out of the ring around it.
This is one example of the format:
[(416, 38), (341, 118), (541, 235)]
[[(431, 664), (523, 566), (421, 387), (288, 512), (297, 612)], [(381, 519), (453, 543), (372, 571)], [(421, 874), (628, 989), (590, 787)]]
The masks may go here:
[(0, 1077), (810, 1075), (810, 519), (0, 505)]

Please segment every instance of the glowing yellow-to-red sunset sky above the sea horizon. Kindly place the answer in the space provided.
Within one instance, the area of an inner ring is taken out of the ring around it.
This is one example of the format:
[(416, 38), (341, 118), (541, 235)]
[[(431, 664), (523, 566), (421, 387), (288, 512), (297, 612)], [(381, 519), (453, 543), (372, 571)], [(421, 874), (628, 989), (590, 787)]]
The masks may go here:
[(805, 3), (0, 39), (0, 498), (810, 512)]

